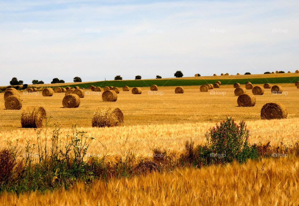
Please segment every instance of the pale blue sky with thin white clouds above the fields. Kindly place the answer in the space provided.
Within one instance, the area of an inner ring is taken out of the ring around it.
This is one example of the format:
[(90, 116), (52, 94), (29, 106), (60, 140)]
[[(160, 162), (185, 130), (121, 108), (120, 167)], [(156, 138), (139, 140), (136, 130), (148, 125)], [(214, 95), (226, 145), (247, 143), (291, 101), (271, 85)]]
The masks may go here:
[(298, 34), (298, 0), (0, 0), (0, 85), (294, 72)]

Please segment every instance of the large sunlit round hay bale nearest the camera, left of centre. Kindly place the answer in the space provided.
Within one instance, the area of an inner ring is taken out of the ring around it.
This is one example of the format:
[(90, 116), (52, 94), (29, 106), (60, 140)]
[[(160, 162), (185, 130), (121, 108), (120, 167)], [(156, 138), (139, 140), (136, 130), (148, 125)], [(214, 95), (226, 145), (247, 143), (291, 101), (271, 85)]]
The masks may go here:
[(113, 127), (123, 124), (124, 115), (119, 108), (98, 108), (93, 114), (93, 127)]

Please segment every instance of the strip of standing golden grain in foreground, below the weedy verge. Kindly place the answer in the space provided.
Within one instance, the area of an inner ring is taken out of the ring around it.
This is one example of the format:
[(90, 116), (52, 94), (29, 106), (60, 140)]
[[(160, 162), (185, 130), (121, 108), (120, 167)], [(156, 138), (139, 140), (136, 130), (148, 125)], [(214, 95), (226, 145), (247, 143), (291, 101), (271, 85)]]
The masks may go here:
[(299, 158), (186, 168), (83, 183), (68, 191), (2, 194), (5, 205), (298, 205)]

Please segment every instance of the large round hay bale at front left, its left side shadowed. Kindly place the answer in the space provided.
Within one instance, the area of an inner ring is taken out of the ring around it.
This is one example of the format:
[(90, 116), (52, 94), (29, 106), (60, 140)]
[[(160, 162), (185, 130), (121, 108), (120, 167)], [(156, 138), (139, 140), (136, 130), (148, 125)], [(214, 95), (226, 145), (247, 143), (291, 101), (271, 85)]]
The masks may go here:
[(46, 110), (41, 106), (30, 106), (21, 115), (22, 128), (40, 128), (45, 125)]

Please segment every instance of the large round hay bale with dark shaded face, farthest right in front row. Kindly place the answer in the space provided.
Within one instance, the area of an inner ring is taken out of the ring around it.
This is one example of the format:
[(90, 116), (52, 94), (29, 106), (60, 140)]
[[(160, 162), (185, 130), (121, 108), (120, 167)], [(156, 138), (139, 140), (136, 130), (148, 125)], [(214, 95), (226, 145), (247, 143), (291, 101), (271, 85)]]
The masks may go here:
[(280, 103), (267, 103), (261, 109), (261, 119), (286, 119), (287, 109)]

